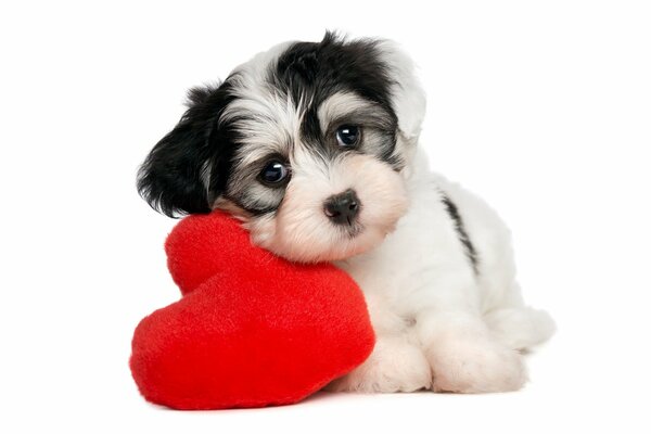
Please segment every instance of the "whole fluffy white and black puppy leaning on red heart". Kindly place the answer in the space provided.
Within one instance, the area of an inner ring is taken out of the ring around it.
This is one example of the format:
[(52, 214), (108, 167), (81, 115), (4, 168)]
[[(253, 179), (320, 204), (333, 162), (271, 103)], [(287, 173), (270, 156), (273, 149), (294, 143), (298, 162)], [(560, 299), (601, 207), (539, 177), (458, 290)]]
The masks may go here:
[(524, 305), (497, 215), (427, 169), (424, 108), (390, 41), (282, 43), (191, 90), (138, 188), (169, 216), (226, 209), (253, 243), (358, 282), (376, 345), (331, 390), (514, 391), (520, 350), (553, 322)]

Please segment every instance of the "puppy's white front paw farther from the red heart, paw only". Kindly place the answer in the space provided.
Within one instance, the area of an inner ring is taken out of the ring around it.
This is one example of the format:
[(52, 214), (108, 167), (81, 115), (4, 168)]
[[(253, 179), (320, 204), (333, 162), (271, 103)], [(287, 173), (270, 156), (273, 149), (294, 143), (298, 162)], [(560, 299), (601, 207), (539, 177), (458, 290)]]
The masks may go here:
[(448, 340), (431, 348), (436, 392), (511, 392), (526, 382), (522, 356), (482, 340)]

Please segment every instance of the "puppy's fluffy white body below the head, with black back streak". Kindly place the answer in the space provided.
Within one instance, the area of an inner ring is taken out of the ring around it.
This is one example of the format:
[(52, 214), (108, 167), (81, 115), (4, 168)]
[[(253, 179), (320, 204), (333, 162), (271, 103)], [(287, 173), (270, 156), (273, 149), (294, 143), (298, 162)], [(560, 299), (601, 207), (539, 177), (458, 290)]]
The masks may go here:
[(378, 344), (365, 365), (330, 387), (519, 388), (526, 376), (518, 350), (547, 340), (553, 322), (523, 304), (508, 229), (483, 201), (424, 164), (408, 176), (408, 195), (395, 232), (373, 251), (336, 263), (363, 290)]

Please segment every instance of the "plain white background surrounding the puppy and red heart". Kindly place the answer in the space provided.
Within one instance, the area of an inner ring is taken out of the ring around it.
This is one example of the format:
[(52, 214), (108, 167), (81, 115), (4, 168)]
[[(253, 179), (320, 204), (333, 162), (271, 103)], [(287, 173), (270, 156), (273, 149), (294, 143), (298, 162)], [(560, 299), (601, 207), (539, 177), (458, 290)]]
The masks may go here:
[[(639, 1), (2, 2), (0, 431), (649, 432), (651, 14)], [(135, 189), (184, 91), (327, 29), (403, 43), (432, 166), (511, 226), (553, 340), (519, 393), (323, 394), (178, 412), (130, 378), (140, 318), (178, 298), (174, 220)]]

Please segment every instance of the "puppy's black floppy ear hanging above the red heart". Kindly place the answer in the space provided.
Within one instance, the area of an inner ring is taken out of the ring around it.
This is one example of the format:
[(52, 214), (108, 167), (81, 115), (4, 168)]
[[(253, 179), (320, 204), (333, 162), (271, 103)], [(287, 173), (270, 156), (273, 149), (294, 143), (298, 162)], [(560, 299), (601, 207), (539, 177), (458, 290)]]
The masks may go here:
[[(228, 86), (196, 88), (188, 93), (188, 110), (178, 125), (153, 148), (138, 171), (138, 192), (156, 210), (175, 217), (209, 213), (213, 174), (225, 143), (217, 131), (230, 101)], [(217, 184), (224, 184), (217, 182)]]

